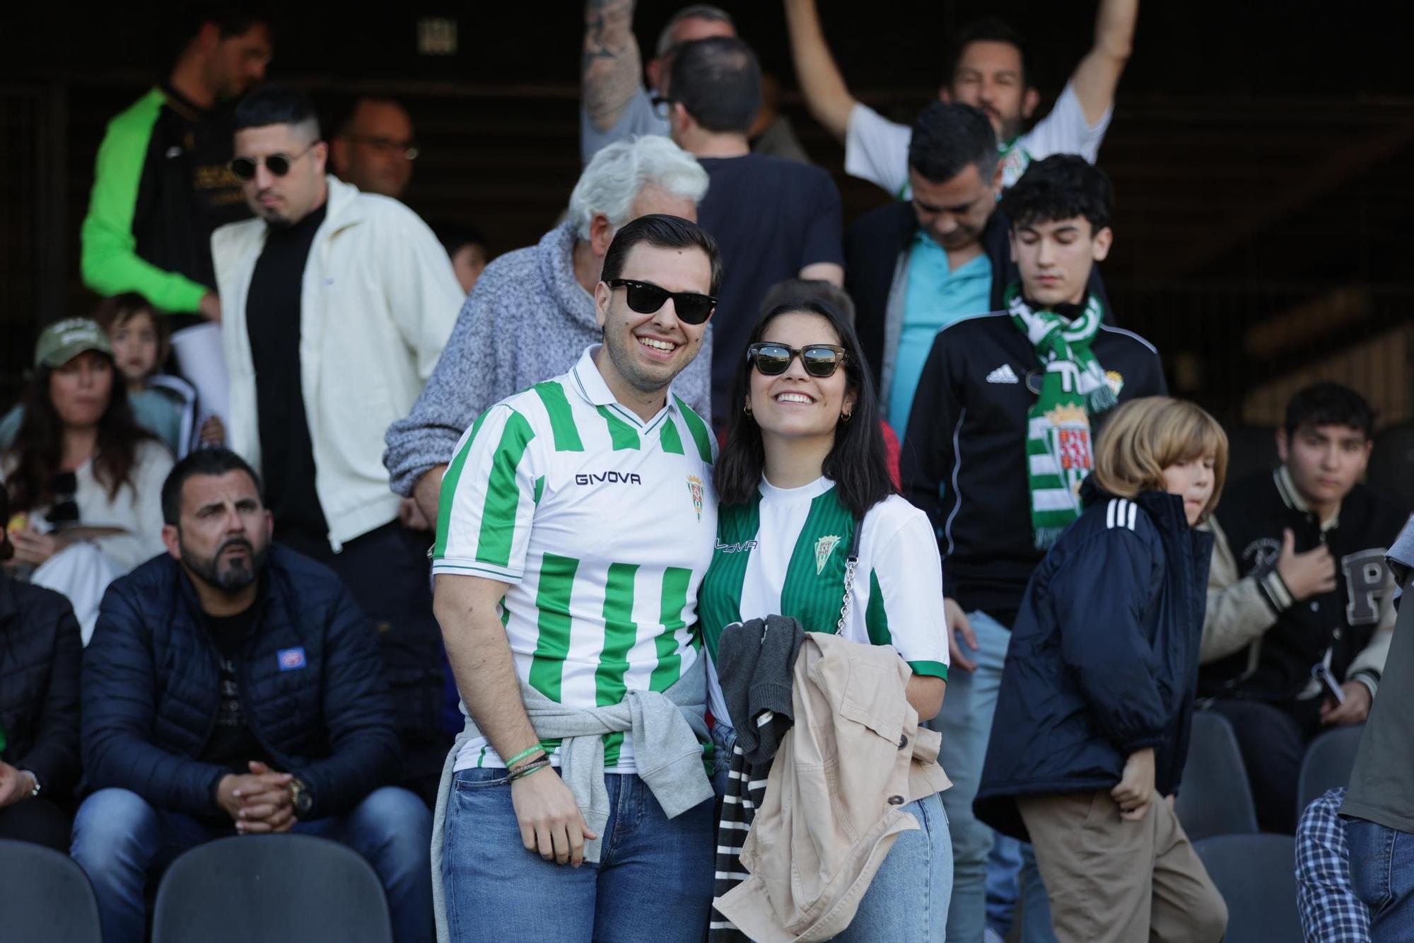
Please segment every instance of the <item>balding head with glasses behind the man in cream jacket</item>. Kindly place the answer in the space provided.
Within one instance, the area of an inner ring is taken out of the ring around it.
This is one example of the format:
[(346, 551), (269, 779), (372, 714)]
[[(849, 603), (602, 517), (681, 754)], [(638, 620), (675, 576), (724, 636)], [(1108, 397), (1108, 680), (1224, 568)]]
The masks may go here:
[(334, 173), (363, 193), (402, 200), (413, 178), (413, 119), (390, 98), (361, 98), (329, 142)]

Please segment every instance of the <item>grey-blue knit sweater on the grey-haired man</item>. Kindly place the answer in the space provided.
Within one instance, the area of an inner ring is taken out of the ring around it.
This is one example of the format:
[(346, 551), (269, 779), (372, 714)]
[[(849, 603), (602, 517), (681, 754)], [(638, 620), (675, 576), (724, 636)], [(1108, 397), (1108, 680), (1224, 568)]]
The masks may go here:
[[(395, 491), (451, 462), (461, 435), (488, 406), (574, 367), (601, 340), (594, 299), (574, 279), (574, 228), (499, 256), (481, 273), (457, 316), (447, 350), (411, 415), (387, 428), (383, 464)], [(711, 331), (673, 391), (711, 422)]]

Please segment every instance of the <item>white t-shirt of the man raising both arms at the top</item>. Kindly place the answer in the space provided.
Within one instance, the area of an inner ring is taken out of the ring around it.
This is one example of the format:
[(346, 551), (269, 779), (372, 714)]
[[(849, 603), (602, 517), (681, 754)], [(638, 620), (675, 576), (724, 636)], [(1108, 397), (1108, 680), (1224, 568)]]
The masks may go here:
[[(1093, 164), (1113, 115), (1111, 102), (1099, 122), (1087, 123), (1075, 86), (1066, 82), (1049, 115), (1025, 135), (1000, 147), (1003, 185), (1017, 183), (1032, 160), (1051, 154), (1080, 154)], [(899, 200), (908, 200), (912, 195), (908, 185), (908, 142), (912, 137), (911, 126), (891, 122), (868, 105), (855, 102), (844, 132), (844, 173), (878, 184)]]

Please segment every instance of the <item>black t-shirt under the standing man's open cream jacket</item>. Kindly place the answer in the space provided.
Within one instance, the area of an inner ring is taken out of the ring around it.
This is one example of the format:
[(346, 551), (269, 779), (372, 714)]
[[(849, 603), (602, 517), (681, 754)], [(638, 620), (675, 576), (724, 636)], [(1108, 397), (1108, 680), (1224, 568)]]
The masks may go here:
[(304, 419), (300, 297), (324, 215), (320, 207), (293, 227), (269, 228), (246, 296), (266, 507), (274, 515), (276, 539), (321, 558), (329, 555), (329, 525), (314, 490), (314, 446)]

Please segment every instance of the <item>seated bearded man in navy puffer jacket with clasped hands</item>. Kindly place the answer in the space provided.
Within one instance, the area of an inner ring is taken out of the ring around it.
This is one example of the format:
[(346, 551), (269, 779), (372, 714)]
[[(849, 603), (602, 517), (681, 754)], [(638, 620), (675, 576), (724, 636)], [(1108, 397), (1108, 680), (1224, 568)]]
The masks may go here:
[(163, 486), (157, 556), (103, 598), (83, 656), (82, 748), (98, 791), (74, 858), (103, 939), (141, 940), (144, 888), (222, 834), (298, 831), (368, 858), (395, 936), (431, 935), (427, 807), (399, 772), (378, 637), (339, 578), (270, 545), (255, 471), (194, 452)]

